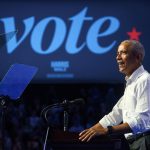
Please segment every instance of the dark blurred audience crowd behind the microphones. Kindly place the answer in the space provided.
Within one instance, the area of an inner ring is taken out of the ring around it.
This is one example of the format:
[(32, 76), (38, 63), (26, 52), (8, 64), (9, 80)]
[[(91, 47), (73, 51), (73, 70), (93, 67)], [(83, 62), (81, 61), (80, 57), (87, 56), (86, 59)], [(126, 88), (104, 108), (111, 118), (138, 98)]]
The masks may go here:
[(1, 140), (4, 138), (5, 141), (5, 150), (41, 150), (47, 125), (63, 130), (63, 109), (51, 109), (46, 122), (41, 117), (41, 111), (46, 106), (65, 99), (83, 98), (85, 105), (68, 108), (68, 131), (80, 132), (109, 112), (122, 91), (123, 84), (29, 85), (20, 100), (8, 102), (4, 137), (0, 132)]

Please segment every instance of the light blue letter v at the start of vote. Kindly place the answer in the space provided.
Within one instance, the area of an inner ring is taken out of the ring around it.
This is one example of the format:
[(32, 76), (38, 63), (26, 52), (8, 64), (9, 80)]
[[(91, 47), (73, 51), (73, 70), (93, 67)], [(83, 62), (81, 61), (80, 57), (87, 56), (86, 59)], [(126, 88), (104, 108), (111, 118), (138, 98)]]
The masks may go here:
[[(7, 52), (9, 54), (12, 53), (19, 46), (19, 44), (26, 38), (26, 36), (29, 34), (29, 32), (31, 31), (31, 29), (33, 27), (34, 20), (35, 20), (34, 17), (25, 19), (23, 21), (25, 24), (25, 31), (24, 31), (22, 37), (17, 41), (16, 35), (14, 35), (14, 37), (6, 43)], [(0, 21), (2, 21), (4, 23), (4, 29), (5, 29), (6, 33), (16, 30), (14, 17), (3, 18), (3, 19), (0, 19)]]

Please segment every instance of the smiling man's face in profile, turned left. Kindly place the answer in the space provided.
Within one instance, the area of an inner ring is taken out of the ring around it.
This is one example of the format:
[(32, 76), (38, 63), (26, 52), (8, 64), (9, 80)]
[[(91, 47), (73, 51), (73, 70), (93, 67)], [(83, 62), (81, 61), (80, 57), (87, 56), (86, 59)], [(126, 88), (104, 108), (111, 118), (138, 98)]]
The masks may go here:
[(138, 56), (133, 53), (129, 45), (119, 45), (116, 60), (119, 71), (128, 77), (139, 67)]

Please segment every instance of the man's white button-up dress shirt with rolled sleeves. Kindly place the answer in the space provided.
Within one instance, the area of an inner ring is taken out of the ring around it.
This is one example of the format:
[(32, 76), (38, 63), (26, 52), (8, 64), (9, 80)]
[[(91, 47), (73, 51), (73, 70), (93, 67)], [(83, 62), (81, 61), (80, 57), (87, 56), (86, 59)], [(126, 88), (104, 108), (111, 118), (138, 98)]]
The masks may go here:
[(124, 95), (99, 121), (104, 128), (128, 123), (132, 133), (125, 137), (150, 130), (150, 74), (140, 66), (126, 81)]

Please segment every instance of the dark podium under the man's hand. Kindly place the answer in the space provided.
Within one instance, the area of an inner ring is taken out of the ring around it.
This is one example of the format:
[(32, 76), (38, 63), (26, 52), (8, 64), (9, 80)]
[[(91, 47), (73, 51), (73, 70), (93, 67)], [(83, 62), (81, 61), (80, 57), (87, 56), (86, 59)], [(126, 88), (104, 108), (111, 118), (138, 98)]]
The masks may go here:
[(58, 130), (52, 132), (49, 139), (52, 150), (125, 150), (121, 138), (99, 136), (90, 142), (81, 142), (78, 134)]

